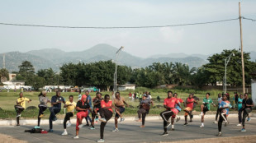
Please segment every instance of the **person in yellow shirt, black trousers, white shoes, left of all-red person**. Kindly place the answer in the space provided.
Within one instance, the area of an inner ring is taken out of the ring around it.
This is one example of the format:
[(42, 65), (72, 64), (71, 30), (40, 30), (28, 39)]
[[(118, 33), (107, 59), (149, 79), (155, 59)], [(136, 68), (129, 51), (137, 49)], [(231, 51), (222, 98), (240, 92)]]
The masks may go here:
[[(74, 108), (76, 106), (77, 104), (73, 101), (73, 95), (69, 95), (69, 101), (67, 101), (66, 104), (64, 104), (64, 108), (67, 108), (67, 113), (63, 122), (64, 132), (61, 135), (68, 135), (66, 128), (71, 126), (70, 118), (73, 117)], [(68, 124), (66, 124), (67, 122)]]

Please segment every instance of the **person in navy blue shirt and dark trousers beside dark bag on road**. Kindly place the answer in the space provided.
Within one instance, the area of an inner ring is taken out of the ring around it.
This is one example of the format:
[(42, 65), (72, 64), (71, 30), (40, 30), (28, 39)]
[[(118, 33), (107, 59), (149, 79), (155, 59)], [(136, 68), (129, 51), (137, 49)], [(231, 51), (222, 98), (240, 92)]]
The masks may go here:
[(50, 130), (48, 132), (53, 132), (53, 121), (56, 121), (56, 114), (60, 112), (61, 110), (61, 103), (66, 103), (65, 99), (60, 96), (60, 91), (56, 91), (56, 95), (51, 97), (51, 105), (52, 107), (49, 108), (50, 110), (50, 118), (49, 118), (49, 124), (50, 124)]

